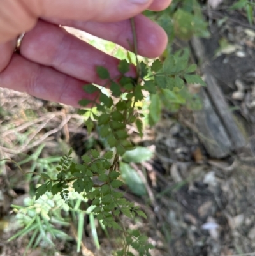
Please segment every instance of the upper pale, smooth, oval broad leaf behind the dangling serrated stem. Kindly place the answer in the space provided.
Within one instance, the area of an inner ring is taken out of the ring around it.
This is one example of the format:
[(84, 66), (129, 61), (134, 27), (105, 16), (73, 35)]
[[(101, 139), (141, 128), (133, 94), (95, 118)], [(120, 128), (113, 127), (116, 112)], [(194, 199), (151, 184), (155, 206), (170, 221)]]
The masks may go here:
[(122, 156), (122, 160), (128, 163), (141, 163), (150, 160), (152, 156), (153, 153), (150, 149), (146, 147), (136, 147), (133, 150), (126, 151), (124, 156)]

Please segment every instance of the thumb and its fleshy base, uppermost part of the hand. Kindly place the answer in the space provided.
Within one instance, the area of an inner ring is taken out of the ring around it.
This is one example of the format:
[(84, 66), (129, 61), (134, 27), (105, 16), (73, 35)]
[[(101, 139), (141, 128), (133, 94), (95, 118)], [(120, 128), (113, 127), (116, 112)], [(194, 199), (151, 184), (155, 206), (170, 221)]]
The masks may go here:
[[(32, 29), (36, 20), (116, 22), (149, 8), (153, 0), (8, 0), (0, 6), (0, 43)], [(3, 15), (2, 15), (3, 14)]]

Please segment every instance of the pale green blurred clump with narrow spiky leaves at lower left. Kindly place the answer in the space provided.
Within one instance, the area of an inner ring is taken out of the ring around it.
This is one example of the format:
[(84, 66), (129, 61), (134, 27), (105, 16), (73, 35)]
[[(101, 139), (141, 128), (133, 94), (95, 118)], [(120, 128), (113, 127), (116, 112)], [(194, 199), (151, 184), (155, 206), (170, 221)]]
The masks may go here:
[[(41, 186), (39, 187), (41, 188)], [(46, 192), (38, 200), (26, 198), (24, 206), (12, 206), (17, 213), (16, 219), (22, 229), (8, 241), (32, 233), (24, 255), (30, 248), (54, 247), (54, 239), (70, 239), (66, 233), (59, 230), (57, 225), (69, 226), (69, 222), (61, 216), (61, 210), (68, 211), (69, 207), (60, 195), (53, 196)], [(54, 209), (54, 210), (53, 210)]]

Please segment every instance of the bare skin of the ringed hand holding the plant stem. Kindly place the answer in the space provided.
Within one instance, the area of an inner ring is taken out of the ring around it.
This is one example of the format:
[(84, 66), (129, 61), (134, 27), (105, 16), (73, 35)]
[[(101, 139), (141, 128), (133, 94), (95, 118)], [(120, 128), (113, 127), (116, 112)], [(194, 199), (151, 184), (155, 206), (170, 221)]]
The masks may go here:
[[(141, 15), (164, 10), (171, 0), (0, 0), (0, 87), (78, 107), (95, 95), (84, 84), (102, 85), (96, 66), (118, 75), (119, 60), (67, 33), (75, 27), (131, 50), (130, 18), (135, 17), (138, 54), (157, 57), (166, 47), (163, 29)], [(17, 36), (26, 32), (20, 52)], [(135, 68), (128, 73), (135, 76)]]

